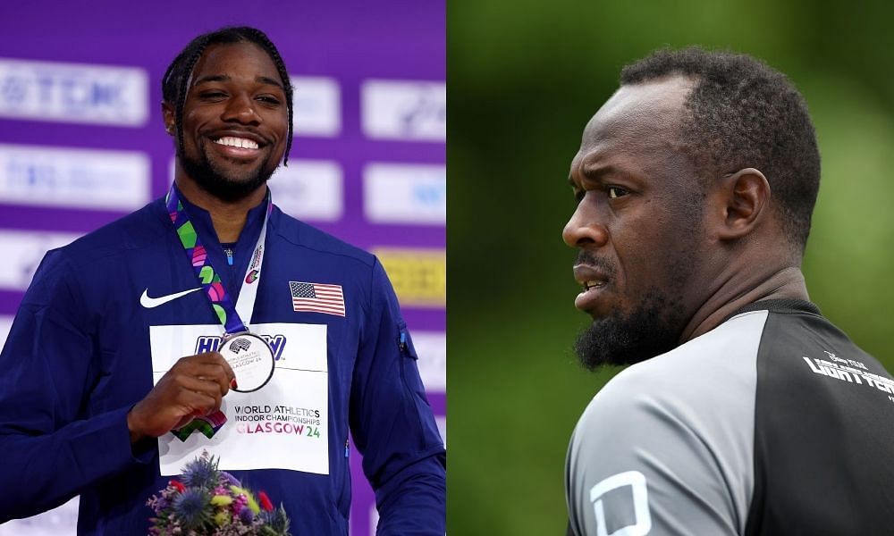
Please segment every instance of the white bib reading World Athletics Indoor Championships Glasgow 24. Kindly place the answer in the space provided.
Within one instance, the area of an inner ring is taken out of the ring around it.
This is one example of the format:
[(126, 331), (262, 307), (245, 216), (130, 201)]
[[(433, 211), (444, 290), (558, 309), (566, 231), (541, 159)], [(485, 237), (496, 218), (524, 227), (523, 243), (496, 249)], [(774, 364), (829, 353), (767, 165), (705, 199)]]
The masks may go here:
[[(194, 431), (186, 441), (158, 438), (159, 468), (180, 474), (203, 451), (224, 471), (290, 469), (329, 474), (329, 373), (325, 324), (252, 324), (274, 351), (276, 372), (263, 389), (231, 390), (223, 424), (212, 438)], [(217, 350), (220, 325), (150, 326), (152, 379), (157, 383), (183, 356)]]

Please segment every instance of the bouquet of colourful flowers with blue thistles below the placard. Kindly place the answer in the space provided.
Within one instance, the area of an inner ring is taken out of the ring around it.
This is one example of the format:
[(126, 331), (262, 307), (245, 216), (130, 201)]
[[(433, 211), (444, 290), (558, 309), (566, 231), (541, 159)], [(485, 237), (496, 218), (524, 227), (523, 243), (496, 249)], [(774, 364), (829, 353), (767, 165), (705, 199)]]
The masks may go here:
[(183, 468), (147, 503), (152, 536), (291, 536), (283, 506), (274, 508), (264, 491), (256, 496), (204, 454)]

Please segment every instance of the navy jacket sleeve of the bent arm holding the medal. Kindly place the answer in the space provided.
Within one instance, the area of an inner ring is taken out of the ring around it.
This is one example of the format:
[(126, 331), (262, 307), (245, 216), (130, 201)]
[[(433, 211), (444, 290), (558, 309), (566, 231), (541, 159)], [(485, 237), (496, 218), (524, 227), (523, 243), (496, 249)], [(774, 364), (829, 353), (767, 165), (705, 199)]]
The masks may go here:
[(0, 523), (57, 507), (134, 463), (130, 407), (90, 415), (95, 335), (76, 273), (52, 251), (0, 353)]

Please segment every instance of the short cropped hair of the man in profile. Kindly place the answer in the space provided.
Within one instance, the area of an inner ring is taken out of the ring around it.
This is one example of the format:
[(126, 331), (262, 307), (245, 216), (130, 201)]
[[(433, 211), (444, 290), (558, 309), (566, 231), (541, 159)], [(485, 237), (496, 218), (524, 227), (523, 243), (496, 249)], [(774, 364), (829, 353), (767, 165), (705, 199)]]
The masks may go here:
[(624, 67), (620, 83), (669, 76), (695, 81), (684, 103), (679, 143), (701, 178), (746, 167), (763, 172), (783, 232), (803, 251), (820, 186), (820, 154), (804, 97), (760, 60), (697, 46), (656, 50)]

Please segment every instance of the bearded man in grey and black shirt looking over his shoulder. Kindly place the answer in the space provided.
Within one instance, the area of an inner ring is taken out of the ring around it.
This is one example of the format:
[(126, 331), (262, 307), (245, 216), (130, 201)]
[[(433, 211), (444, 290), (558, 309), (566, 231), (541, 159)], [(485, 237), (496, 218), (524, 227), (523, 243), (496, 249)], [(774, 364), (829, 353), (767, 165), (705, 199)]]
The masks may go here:
[(894, 381), (810, 303), (820, 178), (804, 99), (754, 58), (662, 50), (586, 125), (563, 238), (583, 364), (569, 533), (881, 534)]

